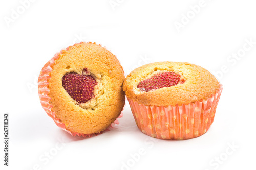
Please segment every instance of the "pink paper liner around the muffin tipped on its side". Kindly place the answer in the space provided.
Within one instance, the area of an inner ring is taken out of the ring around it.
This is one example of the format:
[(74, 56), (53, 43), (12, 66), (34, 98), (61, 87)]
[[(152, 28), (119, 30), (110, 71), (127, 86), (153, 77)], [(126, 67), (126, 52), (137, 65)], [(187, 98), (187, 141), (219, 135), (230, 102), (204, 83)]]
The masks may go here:
[[(80, 42), (80, 43), (83, 43), (83, 42)], [(75, 46), (76, 44), (80, 44), (80, 43), (75, 43), (73, 46)], [(87, 43), (92, 43), (92, 42), (87, 42)], [(94, 42), (93, 44), (96, 44), (96, 43)], [(71, 46), (67, 47), (66, 50), (69, 50), (70, 47)], [(42, 108), (44, 108), (44, 110), (46, 111), (48, 116), (51, 117), (54, 120), (55, 124), (58, 127), (60, 127), (61, 129), (65, 130), (66, 132), (68, 132), (69, 134), (71, 134), (73, 136), (77, 135), (77, 136), (83, 136), (83, 137), (92, 137), (92, 136), (97, 136), (99, 134), (102, 134), (105, 131), (111, 130), (111, 128), (115, 127), (115, 124), (119, 124), (118, 118), (121, 118), (123, 116), (123, 112), (121, 112), (120, 115), (116, 118), (116, 120), (108, 128), (106, 128), (104, 131), (101, 131), (99, 133), (92, 133), (92, 134), (83, 134), (83, 133), (78, 133), (78, 132), (71, 132), (71, 131), (67, 130), (65, 124), (63, 124), (61, 122), (61, 120), (55, 116), (54, 111), (52, 111), (53, 105), (51, 105), (49, 103), (51, 101), (51, 98), (48, 96), (48, 93), (50, 91), (48, 89), (48, 85), (49, 85), (48, 79), (51, 78), (51, 76), (49, 75), (49, 73), (52, 71), (51, 65), (54, 64), (55, 60), (57, 60), (59, 58), (60, 54), (62, 54), (62, 51), (63, 50), (56, 53), (54, 55), (54, 57), (49, 62), (47, 62), (45, 64), (45, 66), (42, 68), (42, 70), (40, 72), (40, 75), (38, 77), (38, 93), (39, 93), (39, 98), (40, 98)]]

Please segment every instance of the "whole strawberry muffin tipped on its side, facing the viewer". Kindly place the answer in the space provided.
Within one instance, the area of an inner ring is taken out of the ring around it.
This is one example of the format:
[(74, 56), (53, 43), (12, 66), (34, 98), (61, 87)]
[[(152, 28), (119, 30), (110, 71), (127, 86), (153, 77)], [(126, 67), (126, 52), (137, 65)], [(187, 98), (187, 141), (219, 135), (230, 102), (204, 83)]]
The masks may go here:
[(113, 127), (124, 107), (124, 72), (118, 59), (96, 43), (81, 42), (60, 51), (38, 78), (42, 107), (73, 136)]

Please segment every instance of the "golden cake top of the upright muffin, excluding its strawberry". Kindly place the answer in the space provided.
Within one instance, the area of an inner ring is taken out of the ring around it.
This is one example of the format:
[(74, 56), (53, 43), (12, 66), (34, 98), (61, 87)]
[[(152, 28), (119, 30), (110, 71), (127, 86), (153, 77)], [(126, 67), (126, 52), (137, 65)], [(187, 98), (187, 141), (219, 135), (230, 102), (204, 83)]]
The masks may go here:
[[(148, 92), (138, 88), (141, 81), (167, 71), (179, 74), (180, 83)], [(218, 80), (209, 71), (195, 64), (183, 62), (156, 62), (143, 65), (133, 70), (123, 83), (127, 98), (139, 104), (157, 106), (180, 106), (206, 100), (211, 94), (216, 93), (219, 87)]]

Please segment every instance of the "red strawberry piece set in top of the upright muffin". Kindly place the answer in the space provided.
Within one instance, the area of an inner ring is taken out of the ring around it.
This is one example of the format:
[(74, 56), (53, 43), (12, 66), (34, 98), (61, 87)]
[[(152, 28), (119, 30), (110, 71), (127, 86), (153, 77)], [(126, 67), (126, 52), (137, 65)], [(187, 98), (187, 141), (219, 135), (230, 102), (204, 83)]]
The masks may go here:
[[(151, 78), (141, 81), (138, 84), (138, 88), (141, 91), (151, 91), (163, 87), (175, 86), (180, 82), (180, 75), (175, 72), (160, 72)], [(184, 82), (181, 81), (181, 84)]]

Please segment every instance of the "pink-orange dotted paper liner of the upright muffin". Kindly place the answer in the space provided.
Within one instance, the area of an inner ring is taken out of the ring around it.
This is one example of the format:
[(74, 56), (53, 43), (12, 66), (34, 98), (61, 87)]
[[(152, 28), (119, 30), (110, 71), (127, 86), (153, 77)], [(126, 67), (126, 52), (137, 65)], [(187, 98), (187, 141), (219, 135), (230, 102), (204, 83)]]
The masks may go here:
[(158, 139), (184, 140), (208, 131), (214, 122), (222, 89), (220, 85), (207, 100), (181, 106), (146, 106), (127, 99), (140, 131)]

